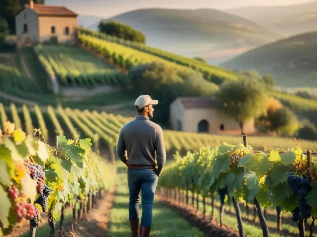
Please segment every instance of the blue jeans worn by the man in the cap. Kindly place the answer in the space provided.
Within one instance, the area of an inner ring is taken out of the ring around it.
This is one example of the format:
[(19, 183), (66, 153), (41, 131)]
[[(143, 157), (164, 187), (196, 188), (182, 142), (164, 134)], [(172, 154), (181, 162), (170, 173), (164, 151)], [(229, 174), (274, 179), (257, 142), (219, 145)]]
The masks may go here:
[(128, 169), (129, 187), (129, 220), (139, 219), (139, 193), (142, 190), (142, 218), (141, 226), (151, 227), (154, 193), (158, 183), (158, 175), (152, 169)]

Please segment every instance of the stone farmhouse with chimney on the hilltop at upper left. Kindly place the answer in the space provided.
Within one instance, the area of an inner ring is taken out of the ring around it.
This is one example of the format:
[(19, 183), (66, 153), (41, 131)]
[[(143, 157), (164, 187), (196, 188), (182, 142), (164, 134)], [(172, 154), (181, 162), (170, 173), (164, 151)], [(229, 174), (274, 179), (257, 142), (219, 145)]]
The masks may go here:
[(66, 7), (35, 4), (30, 0), (15, 16), (17, 44), (42, 43), (54, 36), (59, 42), (73, 44), (77, 16)]

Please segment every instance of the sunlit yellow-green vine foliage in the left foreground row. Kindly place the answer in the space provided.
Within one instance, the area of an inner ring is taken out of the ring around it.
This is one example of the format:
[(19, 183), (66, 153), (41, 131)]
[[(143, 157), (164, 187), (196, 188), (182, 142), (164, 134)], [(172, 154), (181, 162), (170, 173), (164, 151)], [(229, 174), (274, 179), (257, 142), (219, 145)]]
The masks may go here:
[[(76, 202), (77, 196), (85, 200), (88, 193), (96, 194), (106, 187), (104, 161), (91, 151), (90, 139), (66, 140), (60, 136), (57, 148), (52, 149), (40, 139), (26, 136), (10, 122), (4, 123), (3, 132), (0, 134), (0, 226), (4, 234), (10, 234), (12, 227), (23, 218), (30, 219), (28, 216), (19, 219), (17, 205), (24, 202), (27, 206), (39, 207), (34, 203), (41, 196), (39, 186), (29, 174), (26, 163), (42, 167), (45, 173), (42, 181), (52, 190), (47, 210), (42, 211), (51, 210), (55, 218), (66, 202)], [(40, 216), (38, 222), (41, 222)]]

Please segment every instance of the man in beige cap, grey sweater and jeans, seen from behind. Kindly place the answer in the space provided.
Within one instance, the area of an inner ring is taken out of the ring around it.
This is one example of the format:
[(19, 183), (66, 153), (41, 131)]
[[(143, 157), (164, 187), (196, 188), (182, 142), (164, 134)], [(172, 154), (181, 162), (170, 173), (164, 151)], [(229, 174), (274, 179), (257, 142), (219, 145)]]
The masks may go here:
[[(116, 153), (128, 167), (129, 220), (133, 237), (150, 235), (154, 193), (166, 159), (162, 128), (149, 120), (153, 118), (153, 105), (158, 103), (149, 95), (140, 95), (134, 103), (138, 115), (121, 128), (117, 143)], [(139, 226), (140, 190), (143, 212)]]

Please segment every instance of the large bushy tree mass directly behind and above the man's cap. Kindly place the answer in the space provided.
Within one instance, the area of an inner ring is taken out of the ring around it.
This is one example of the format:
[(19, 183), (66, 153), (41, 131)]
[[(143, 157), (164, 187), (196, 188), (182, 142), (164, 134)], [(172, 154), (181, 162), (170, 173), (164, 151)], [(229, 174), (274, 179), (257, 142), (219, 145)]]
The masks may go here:
[(129, 71), (129, 80), (139, 94), (151, 94), (159, 100), (153, 121), (168, 122), (169, 105), (180, 96), (210, 96), (217, 85), (207, 82), (201, 73), (180, 71), (162, 63), (144, 64)]

